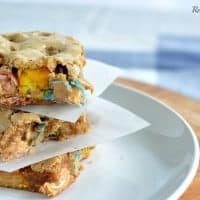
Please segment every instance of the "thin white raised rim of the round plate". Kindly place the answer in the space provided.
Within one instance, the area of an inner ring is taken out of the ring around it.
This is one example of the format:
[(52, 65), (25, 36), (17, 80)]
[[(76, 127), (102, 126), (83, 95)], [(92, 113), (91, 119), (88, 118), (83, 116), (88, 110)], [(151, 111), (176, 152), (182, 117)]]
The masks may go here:
[(193, 155), (194, 159), (193, 159), (193, 162), (190, 166), (190, 169), (189, 169), (187, 175), (185, 176), (183, 182), (173, 191), (172, 194), (170, 194), (167, 197), (168, 200), (179, 199), (181, 197), (181, 195), (183, 195), (183, 193), (188, 189), (188, 187), (190, 186), (192, 181), (194, 180), (194, 177), (195, 177), (197, 170), (198, 170), (198, 167), (199, 167), (200, 148), (199, 148), (199, 142), (198, 142), (198, 138), (197, 138), (195, 131), (193, 130), (191, 125), (187, 122), (187, 120), (180, 113), (178, 113), (177, 111), (175, 111), (174, 108), (167, 105), (163, 101), (157, 99), (156, 97), (153, 97), (150, 94), (143, 92), (142, 90), (127, 86), (123, 83), (114, 82), (112, 85), (117, 86), (117, 87), (121, 87), (121, 88), (126, 89), (126, 90), (129, 90), (130, 92), (136, 92), (136, 93), (142, 95), (145, 98), (148, 98), (152, 101), (155, 101), (155, 102), (161, 104), (162, 106), (164, 106), (165, 108), (170, 110), (173, 114), (175, 114), (188, 128), (189, 134), (190, 134), (191, 139), (192, 139), (193, 144), (194, 144), (194, 155)]

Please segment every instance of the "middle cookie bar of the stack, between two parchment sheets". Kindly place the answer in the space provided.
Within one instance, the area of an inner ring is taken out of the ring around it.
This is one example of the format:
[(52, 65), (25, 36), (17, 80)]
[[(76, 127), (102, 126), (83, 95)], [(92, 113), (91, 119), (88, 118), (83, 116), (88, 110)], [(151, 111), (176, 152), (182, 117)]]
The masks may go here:
[(88, 130), (86, 114), (71, 123), (34, 113), (0, 108), (0, 160), (19, 158), (44, 141), (66, 140)]

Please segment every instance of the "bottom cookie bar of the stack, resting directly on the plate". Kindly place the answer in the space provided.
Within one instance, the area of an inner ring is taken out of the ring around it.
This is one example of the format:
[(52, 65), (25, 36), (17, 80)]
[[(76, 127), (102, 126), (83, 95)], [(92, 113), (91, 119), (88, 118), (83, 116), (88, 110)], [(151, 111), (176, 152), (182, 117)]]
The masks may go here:
[(32, 164), (14, 172), (0, 171), (0, 186), (55, 196), (69, 187), (80, 174), (82, 160), (92, 148), (84, 148)]

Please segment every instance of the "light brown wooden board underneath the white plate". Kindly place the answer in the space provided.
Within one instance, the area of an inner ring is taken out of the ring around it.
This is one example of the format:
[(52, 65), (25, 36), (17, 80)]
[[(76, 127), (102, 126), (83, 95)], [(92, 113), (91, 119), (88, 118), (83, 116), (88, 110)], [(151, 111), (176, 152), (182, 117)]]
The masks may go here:
[[(142, 90), (151, 96), (165, 102), (179, 112), (193, 127), (200, 138), (200, 101), (183, 96), (170, 90), (155, 87), (138, 81), (119, 78), (117, 83)], [(192, 184), (180, 198), (181, 200), (200, 200), (200, 168)]]

